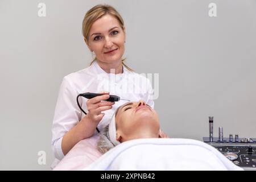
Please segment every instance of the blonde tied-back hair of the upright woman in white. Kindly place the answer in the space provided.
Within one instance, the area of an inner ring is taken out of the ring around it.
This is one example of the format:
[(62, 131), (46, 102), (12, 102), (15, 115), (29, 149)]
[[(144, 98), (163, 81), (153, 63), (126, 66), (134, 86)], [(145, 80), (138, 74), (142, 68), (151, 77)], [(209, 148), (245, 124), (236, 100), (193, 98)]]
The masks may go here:
[[(84, 39), (87, 43), (89, 42), (89, 31), (92, 27), (92, 24), (107, 14), (114, 16), (118, 20), (121, 28), (124, 30), (125, 23), (123, 22), (122, 16), (117, 12), (117, 10), (114, 9), (114, 7), (109, 5), (96, 5), (87, 11), (84, 16), (84, 20), (82, 20), (82, 35), (84, 36)], [(97, 59), (95, 57), (90, 65), (92, 65), (92, 63), (96, 60)], [(122, 59), (123, 66), (125, 66), (129, 71), (133, 72), (133, 69), (129, 68), (125, 63), (123, 63), (125, 60), (126, 58)]]

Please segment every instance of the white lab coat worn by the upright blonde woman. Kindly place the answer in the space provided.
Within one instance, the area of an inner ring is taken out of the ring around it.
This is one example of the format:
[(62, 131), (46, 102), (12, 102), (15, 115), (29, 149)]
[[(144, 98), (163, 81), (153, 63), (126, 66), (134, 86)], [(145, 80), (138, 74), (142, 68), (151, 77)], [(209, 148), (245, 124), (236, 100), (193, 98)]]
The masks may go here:
[[(130, 101), (144, 100), (154, 108), (154, 101), (151, 99), (152, 86), (148, 78), (138, 73), (130, 72), (125, 67), (123, 67), (123, 73), (115, 75), (106, 73), (94, 61), (90, 67), (65, 76), (60, 86), (52, 125), (51, 144), (56, 158), (51, 166), (52, 168), (64, 157), (61, 150), (61, 140), (64, 134), (77, 125), (81, 118), (85, 116), (77, 106), (77, 95), (85, 92), (100, 93), (102, 91), (110, 92), (110, 94)], [(84, 97), (79, 98), (82, 109), (88, 113), (86, 100)], [(112, 109), (102, 112), (105, 115), (98, 125), (100, 131), (108, 125), (115, 109), (126, 102), (128, 101), (120, 100), (115, 102)], [(97, 131), (94, 134), (97, 134)]]

